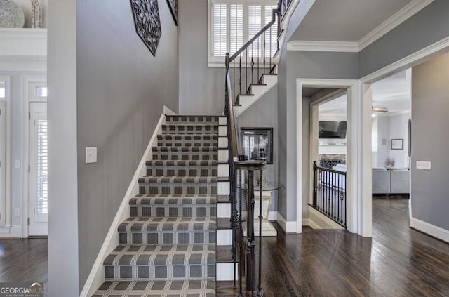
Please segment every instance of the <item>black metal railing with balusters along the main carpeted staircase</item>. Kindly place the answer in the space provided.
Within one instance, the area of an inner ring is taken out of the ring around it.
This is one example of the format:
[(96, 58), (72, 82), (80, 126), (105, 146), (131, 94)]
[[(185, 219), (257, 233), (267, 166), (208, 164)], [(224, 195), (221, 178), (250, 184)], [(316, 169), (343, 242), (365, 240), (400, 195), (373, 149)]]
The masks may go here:
[[(234, 107), (239, 105), (240, 95), (250, 94), (251, 88), (255, 84), (262, 84), (264, 74), (273, 74), (276, 65), (273, 55), (279, 48), (278, 36), (274, 27), (277, 22), (281, 22), (281, 4), (279, 1), (277, 9), (272, 11), (272, 20), (265, 25), (260, 32), (257, 32), (246, 44), (244, 44), (233, 55), (226, 54), (226, 76), (225, 76), (225, 115), (229, 127), (229, 180), (231, 202), (231, 225), (232, 225), (232, 259), (234, 260), (234, 289), (237, 289), (237, 279), (239, 281), (239, 297), (243, 296), (243, 281), (246, 290), (251, 296), (264, 296), (262, 289), (262, 189), (255, 197), (254, 178), (259, 175), (262, 180), (265, 161), (246, 160), (241, 154), (239, 145), (238, 128)], [(285, 11), (284, 11), (285, 13)], [(269, 43), (269, 45), (267, 45)], [(232, 68), (232, 69), (231, 69)], [(246, 185), (247, 199), (246, 210), (246, 236), (243, 234), (242, 206), (243, 206), (243, 185), (242, 172), (248, 176)], [(255, 204), (260, 204), (259, 213), (255, 214)], [(254, 218), (258, 218), (258, 234), (255, 234)], [(258, 245), (256, 243), (258, 240)], [(258, 253), (256, 256), (256, 249)], [(238, 277), (236, 275), (238, 268)], [(257, 284), (256, 284), (257, 282)]]

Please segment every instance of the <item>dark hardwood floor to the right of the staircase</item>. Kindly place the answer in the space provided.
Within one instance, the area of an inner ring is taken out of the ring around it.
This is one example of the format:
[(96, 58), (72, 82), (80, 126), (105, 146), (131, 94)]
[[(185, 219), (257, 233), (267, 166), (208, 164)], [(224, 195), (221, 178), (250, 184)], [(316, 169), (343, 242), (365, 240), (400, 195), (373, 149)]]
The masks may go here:
[[(265, 296), (449, 296), (449, 245), (408, 227), (408, 199), (373, 199), (372, 239), (278, 234), (263, 239)], [(236, 296), (232, 283), (217, 296)]]

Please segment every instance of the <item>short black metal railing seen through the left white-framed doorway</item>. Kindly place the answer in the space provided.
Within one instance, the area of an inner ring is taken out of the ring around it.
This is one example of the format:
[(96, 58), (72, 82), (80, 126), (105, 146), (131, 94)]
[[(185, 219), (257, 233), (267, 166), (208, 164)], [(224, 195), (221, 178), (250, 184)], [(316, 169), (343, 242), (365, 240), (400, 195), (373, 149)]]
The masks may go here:
[(311, 206), (346, 228), (346, 172), (317, 166), (314, 161), (313, 183)]

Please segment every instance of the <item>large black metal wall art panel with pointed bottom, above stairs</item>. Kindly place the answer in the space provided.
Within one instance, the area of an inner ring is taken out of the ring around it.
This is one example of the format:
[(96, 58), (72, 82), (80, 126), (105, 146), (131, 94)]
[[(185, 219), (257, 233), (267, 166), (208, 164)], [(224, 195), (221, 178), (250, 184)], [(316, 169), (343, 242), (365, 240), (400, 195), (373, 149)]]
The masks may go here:
[(156, 56), (161, 39), (161, 19), (158, 0), (130, 0), (133, 9), (135, 30), (149, 51)]

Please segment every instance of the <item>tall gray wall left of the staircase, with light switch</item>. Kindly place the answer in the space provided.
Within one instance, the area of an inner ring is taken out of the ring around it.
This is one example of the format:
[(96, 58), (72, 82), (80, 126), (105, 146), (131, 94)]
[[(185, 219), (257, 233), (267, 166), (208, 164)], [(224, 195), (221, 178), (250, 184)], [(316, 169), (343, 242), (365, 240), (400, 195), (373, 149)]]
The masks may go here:
[[(178, 108), (178, 29), (159, 0), (156, 58), (128, 1), (49, 4), (50, 296), (76, 296), (109, 230), (163, 105)], [(98, 163), (84, 164), (86, 146)]]

